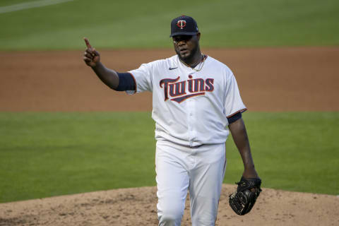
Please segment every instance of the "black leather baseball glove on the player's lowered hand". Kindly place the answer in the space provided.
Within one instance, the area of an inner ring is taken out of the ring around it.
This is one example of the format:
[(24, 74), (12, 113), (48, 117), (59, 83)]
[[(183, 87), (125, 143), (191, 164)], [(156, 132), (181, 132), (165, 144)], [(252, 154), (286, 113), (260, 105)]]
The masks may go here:
[(232, 210), (237, 215), (245, 215), (251, 211), (254, 203), (256, 203), (256, 198), (258, 198), (261, 192), (261, 179), (246, 179), (242, 177), (240, 182), (235, 184), (238, 184), (237, 191), (230, 194), (228, 201)]

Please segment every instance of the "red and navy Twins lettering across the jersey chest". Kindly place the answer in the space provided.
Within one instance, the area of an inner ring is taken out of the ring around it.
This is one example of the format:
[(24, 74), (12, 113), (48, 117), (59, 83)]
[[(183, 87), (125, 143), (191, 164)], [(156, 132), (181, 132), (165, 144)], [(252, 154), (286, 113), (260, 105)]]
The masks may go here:
[(165, 101), (172, 100), (178, 103), (191, 97), (205, 95), (206, 92), (213, 92), (213, 78), (193, 78), (189, 75), (186, 81), (179, 81), (177, 78), (164, 78), (160, 81), (160, 88), (164, 89)]

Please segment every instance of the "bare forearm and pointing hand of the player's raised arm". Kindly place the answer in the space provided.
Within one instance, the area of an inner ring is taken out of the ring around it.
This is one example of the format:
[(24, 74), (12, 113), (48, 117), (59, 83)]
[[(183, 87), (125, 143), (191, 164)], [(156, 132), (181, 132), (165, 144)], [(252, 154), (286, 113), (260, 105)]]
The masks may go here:
[(85, 64), (90, 66), (93, 71), (97, 74), (100, 80), (105, 83), (109, 88), (117, 90), (119, 85), (119, 76), (116, 71), (112, 69), (107, 69), (100, 62), (100, 54), (90, 45), (90, 41), (84, 37), (86, 44), (85, 53), (83, 54), (83, 61)]

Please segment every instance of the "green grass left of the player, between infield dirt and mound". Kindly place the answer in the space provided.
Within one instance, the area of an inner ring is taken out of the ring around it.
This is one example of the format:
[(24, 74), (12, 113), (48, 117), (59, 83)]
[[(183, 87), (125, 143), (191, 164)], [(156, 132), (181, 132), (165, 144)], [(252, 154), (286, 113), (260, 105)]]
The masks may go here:
[(152, 186), (149, 113), (1, 113), (0, 202)]

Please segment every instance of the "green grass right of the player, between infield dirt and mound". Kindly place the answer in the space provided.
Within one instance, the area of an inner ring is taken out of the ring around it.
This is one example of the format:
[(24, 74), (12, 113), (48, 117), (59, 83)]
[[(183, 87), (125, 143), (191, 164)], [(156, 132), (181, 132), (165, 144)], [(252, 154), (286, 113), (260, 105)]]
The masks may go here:
[[(339, 194), (339, 112), (243, 114), (263, 186)], [(239, 180), (242, 161), (227, 142), (226, 182)]]

